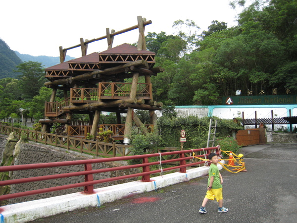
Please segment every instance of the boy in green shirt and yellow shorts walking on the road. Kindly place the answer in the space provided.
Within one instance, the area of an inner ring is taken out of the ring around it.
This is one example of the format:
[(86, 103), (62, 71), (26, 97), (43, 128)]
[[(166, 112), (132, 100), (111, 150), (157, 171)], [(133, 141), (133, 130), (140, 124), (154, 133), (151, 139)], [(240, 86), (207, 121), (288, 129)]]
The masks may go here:
[(200, 214), (205, 214), (205, 205), (207, 201), (214, 200), (214, 198), (219, 203), (218, 212), (228, 212), (228, 208), (223, 207), (223, 178), (221, 173), (219, 172), (219, 169), (217, 167), (217, 164), (219, 163), (219, 158), (215, 153), (211, 153), (208, 155), (208, 159), (212, 162), (209, 167), (208, 172), (208, 183), (207, 183), (207, 192), (202, 202), (202, 207), (199, 209)]

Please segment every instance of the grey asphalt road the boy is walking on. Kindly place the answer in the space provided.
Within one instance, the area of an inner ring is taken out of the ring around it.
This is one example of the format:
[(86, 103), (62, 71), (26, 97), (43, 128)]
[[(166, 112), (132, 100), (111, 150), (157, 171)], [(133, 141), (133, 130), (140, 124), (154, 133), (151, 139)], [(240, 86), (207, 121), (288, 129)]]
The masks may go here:
[(296, 223), (297, 144), (270, 144), (243, 150), (247, 172), (222, 170), (224, 206), (209, 201), (198, 214), (207, 177), (35, 222), (43, 223)]

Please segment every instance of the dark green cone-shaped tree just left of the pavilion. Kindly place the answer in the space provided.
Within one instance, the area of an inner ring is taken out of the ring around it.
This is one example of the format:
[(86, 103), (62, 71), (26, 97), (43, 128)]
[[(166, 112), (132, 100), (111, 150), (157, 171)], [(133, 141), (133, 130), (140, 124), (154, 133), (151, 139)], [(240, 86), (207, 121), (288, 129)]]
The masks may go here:
[(19, 76), (19, 85), (23, 99), (33, 99), (46, 81), (42, 63), (28, 61), (17, 65), (16, 68), (16, 72), (22, 73)]

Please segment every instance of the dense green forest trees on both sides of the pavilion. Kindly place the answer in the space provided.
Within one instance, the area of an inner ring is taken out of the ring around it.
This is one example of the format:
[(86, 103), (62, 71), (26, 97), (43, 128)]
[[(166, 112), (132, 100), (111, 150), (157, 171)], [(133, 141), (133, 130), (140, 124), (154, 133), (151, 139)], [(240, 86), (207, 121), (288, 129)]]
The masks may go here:
[[(244, 3), (232, 2), (234, 7)], [(273, 89), (278, 95), (297, 94), (297, 0), (256, 0), (238, 15), (235, 27), (212, 21), (201, 32), (187, 19), (175, 21), (173, 28), (174, 35), (146, 36), (156, 66), (165, 68), (151, 78), (154, 100), (165, 106), (218, 105), (236, 90), (242, 95), (271, 95)], [(0, 40), (0, 56), (3, 48), (9, 49)], [(5, 58), (0, 58), (0, 73), (8, 64)], [(21, 63), (13, 51), (8, 58), (15, 76), (10, 70), (0, 79), (0, 119), (11, 114), (43, 118), (51, 89), (44, 87), (42, 63)], [(59, 97), (63, 93), (58, 91)]]

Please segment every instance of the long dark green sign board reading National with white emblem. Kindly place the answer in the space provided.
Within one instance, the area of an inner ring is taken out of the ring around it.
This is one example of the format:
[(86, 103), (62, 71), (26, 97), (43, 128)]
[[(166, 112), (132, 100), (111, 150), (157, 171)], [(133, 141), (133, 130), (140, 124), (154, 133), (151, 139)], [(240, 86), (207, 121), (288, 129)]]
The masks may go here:
[(263, 95), (223, 97), (223, 105), (292, 105), (297, 95)]

